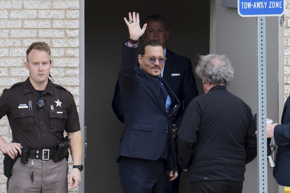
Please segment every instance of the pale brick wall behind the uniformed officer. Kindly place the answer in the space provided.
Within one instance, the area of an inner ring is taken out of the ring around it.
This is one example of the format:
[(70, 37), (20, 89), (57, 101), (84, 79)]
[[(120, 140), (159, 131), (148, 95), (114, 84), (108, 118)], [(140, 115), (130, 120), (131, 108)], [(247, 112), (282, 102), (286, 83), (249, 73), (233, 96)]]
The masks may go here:
[[(50, 45), (51, 75), (56, 84), (72, 92), (79, 107), (79, 1), (0, 0), (0, 91), (26, 80), (25, 51), (34, 41)], [(0, 135), (7, 142), (12, 139), (6, 116), (0, 120)], [(0, 164), (2, 192), (6, 192), (6, 177)]]

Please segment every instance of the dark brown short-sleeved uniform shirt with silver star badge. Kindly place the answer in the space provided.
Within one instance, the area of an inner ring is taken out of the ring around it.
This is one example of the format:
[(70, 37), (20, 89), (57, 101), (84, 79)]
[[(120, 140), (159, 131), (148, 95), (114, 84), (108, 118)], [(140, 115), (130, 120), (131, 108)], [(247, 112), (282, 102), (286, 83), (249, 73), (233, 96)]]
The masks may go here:
[(0, 119), (7, 114), (13, 142), (31, 150), (54, 149), (64, 130), (67, 133), (80, 130), (76, 104), (69, 91), (48, 80), (42, 95), (45, 105), (38, 108), (41, 96), (29, 77), (0, 94)]

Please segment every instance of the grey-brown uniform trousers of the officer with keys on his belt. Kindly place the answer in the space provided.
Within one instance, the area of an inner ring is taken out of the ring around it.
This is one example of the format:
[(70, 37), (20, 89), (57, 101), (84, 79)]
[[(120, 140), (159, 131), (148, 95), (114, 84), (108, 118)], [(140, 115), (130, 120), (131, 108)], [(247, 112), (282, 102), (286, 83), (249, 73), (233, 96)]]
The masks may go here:
[[(67, 193), (68, 164), (66, 159), (53, 162), (53, 159), (34, 160), (34, 179), (31, 181), (31, 158), (27, 163), (20, 162), (18, 157), (7, 180), (8, 193)], [(33, 168), (32, 168), (33, 169)]]

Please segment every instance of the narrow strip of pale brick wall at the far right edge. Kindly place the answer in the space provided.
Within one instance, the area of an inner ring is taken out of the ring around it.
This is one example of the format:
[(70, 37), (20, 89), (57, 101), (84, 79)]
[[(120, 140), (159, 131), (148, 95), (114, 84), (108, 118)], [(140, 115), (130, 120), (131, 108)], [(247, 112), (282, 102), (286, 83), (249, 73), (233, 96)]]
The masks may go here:
[(285, 1), (284, 14), (284, 102), (290, 94), (290, 0)]

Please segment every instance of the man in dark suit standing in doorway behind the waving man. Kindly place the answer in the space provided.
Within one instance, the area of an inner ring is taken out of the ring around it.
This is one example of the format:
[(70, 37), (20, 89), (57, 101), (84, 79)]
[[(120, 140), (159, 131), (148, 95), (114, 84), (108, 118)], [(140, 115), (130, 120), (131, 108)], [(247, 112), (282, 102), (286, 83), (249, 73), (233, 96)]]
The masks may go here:
[[(143, 34), (143, 40), (157, 40), (162, 44), (166, 62), (164, 63), (161, 76), (169, 87), (178, 97), (179, 101), (183, 101), (184, 109), (179, 108), (176, 119), (173, 121), (172, 127), (178, 129), (181, 124), (183, 114), (189, 104), (189, 102), (198, 96), (198, 91), (195, 83), (195, 77), (192, 72), (192, 64), (189, 58), (179, 56), (176, 53), (168, 50), (166, 42), (169, 38), (169, 30), (167, 29), (166, 20), (159, 14), (152, 14), (145, 19), (147, 28)], [(114, 113), (118, 119), (124, 123), (124, 112), (121, 103), (120, 86), (117, 81), (114, 97), (112, 101), (112, 107)], [(178, 153), (178, 147), (175, 137), (175, 151), (176, 156)], [(177, 161), (177, 167), (179, 170), (179, 176), (174, 181), (169, 181), (169, 177), (165, 175), (165, 193), (178, 193), (180, 173), (182, 171)]]

